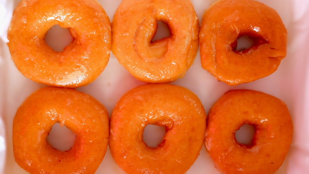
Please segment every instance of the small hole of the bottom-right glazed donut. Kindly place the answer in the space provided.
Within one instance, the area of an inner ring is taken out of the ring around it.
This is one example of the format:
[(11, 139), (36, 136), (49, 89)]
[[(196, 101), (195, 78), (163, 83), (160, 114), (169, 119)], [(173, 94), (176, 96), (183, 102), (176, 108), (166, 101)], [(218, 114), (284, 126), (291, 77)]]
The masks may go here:
[(256, 133), (256, 129), (252, 125), (244, 124), (235, 132), (236, 141), (247, 148), (254, 146), (253, 138)]

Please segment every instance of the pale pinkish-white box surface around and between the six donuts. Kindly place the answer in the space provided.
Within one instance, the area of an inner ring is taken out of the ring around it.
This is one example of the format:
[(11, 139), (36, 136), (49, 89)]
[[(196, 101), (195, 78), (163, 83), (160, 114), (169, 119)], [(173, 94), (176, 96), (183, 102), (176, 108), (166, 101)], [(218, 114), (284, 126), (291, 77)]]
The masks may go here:
[[(294, 123), (294, 137), (290, 152), (276, 172), (280, 174), (309, 173), (309, 1), (307, 0), (259, 0), (273, 7), (281, 16), (288, 30), (288, 53), (278, 70), (269, 77), (236, 87), (217, 82), (201, 68), (197, 54), (194, 65), (183, 79), (172, 84), (187, 87), (197, 94), (206, 112), (226, 91), (231, 89), (253, 89), (262, 91), (284, 101)], [(26, 173), (14, 160), (12, 148), (12, 124), (16, 109), (23, 100), (43, 85), (23, 77), (11, 61), (6, 46), (6, 30), (13, 9), (19, 0), (0, 0), (0, 173)], [(112, 17), (121, 0), (99, 0), (108, 16)], [(215, 0), (192, 0), (201, 22), (203, 11)], [(143, 84), (134, 79), (111, 54), (104, 72), (93, 83), (77, 90), (99, 100), (109, 114), (120, 97), (133, 87)], [(263, 160), (263, 159), (256, 159)], [(109, 150), (97, 173), (123, 173), (114, 163)], [(218, 173), (203, 146), (201, 154), (187, 172)]]

